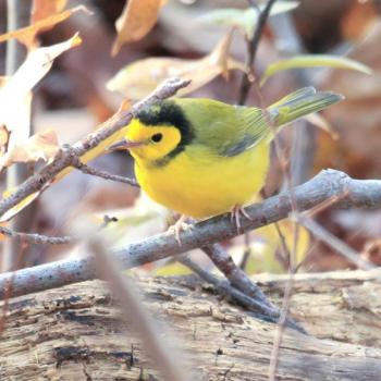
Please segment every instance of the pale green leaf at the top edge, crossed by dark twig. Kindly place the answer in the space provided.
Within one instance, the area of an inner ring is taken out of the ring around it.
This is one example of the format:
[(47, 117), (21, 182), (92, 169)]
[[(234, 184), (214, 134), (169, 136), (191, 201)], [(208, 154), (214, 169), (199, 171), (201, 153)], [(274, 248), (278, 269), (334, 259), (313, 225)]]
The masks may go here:
[[(271, 8), (270, 15), (290, 12), (298, 5), (298, 1), (278, 1)], [(265, 4), (261, 4), (259, 9), (262, 10), (263, 7)], [(236, 26), (242, 28), (250, 38), (258, 22), (258, 11), (253, 8), (246, 10), (235, 8), (218, 9), (197, 17), (196, 22), (204, 25)]]

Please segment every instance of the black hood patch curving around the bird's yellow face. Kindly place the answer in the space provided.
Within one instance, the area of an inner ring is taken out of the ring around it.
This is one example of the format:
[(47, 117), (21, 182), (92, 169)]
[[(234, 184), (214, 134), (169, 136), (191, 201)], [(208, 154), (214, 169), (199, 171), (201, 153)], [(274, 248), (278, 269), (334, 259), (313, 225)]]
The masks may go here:
[(181, 107), (172, 100), (163, 100), (146, 110), (142, 110), (136, 118), (146, 126), (169, 125), (180, 132), (181, 139), (177, 146), (163, 158), (157, 160), (157, 165), (165, 165), (171, 159), (181, 153), (195, 137), (190, 122)]

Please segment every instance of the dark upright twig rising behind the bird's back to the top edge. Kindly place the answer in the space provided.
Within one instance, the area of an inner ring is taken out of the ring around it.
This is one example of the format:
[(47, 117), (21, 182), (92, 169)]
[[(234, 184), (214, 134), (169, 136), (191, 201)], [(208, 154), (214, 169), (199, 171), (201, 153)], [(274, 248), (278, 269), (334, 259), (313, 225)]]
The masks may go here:
[(242, 82), (241, 82), (239, 101), (238, 101), (239, 105), (246, 103), (246, 99), (248, 96), (248, 91), (251, 87), (251, 83), (253, 83), (253, 81), (255, 81), (255, 77), (253, 75), (254, 61), (256, 59), (256, 54), (257, 54), (258, 47), (259, 47), (259, 40), (260, 40), (260, 37), (262, 36), (266, 22), (269, 19), (271, 8), (275, 3), (275, 1), (276, 0), (268, 0), (268, 2), (266, 3), (266, 7), (263, 8), (263, 11), (261, 11), (259, 16), (258, 16), (257, 26), (256, 26), (256, 29), (253, 34), (253, 37), (248, 41), (248, 57), (247, 57), (246, 65), (245, 65), (246, 73), (244, 73), (244, 75), (242, 77)]

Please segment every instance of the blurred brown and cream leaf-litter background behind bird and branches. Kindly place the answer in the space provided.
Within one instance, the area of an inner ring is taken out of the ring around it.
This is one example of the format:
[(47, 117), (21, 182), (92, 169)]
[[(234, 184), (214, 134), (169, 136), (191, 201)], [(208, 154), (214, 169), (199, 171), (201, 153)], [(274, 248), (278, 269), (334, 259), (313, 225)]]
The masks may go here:
[[(28, 1), (25, 0), (25, 3)], [(53, 128), (60, 144), (74, 143), (84, 137), (111, 116), (125, 96), (133, 98), (134, 94), (144, 93), (145, 89), (140, 89), (139, 85), (147, 79), (150, 71), (159, 69), (155, 66), (155, 61), (142, 63), (140, 60), (158, 57), (200, 60), (208, 57), (226, 36), (230, 27), (222, 22), (210, 23), (206, 15), (225, 8), (245, 10), (250, 7), (249, 3), (244, 0), (168, 1), (160, 9), (158, 22), (150, 33), (136, 42), (123, 45), (119, 53), (112, 57), (111, 49), (116, 35), (114, 23), (121, 15), (125, 1), (69, 1), (66, 9), (84, 4), (91, 14), (76, 12), (53, 28), (39, 34), (42, 46), (60, 42), (76, 32), (79, 32), (83, 42), (60, 56), (35, 88), (34, 131)], [(296, 149), (302, 152), (296, 160), (290, 160), (296, 184), (325, 168), (345, 171), (357, 179), (381, 176), (380, 15), (381, 1), (376, 0), (302, 0), (294, 10), (269, 20), (256, 57), (257, 75), (261, 75), (270, 63), (300, 53), (347, 56), (373, 70), (372, 75), (333, 69), (285, 71), (265, 84), (260, 90), (261, 97), (251, 89), (246, 105), (258, 106), (263, 101), (269, 105), (307, 85), (334, 90), (346, 98), (323, 112), (330, 132), (307, 125), (307, 122), (298, 122), (282, 133), (280, 140), (285, 151), (294, 153)], [(0, 0), (0, 34), (5, 32), (7, 1)], [(241, 62), (243, 66), (247, 56), (247, 41), (242, 33), (233, 33), (229, 51), (231, 59)], [(5, 73), (5, 54), (3, 42), (0, 44), (0, 75)], [(114, 77), (120, 70), (136, 62), (137, 69), (128, 79), (132, 83), (124, 83), (126, 79), (123, 75), (118, 79)], [(170, 61), (168, 65), (174, 63)], [(223, 73), (219, 70), (204, 86), (187, 96), (237, 103), (243, 71), (239, 64), (232, 64), (232, 67), (228, 78), (226, 75), (220, 75)], [(113, 81), (109, 83), (111, 79)], [(135, 93), (126, 94), (128, 90)], [(296, 134), (298, 142), (295, 143)], [(133, 161), (127, 153), (105, 155), (91, 162), (91, 165), (113, 174), (133, 176)], [(29, 171), (33, 171), (30, 167)], [(1, 185), (5, 189), (4, 173), (1, 175)], [(276, 194), (282, 187), (283, 173), (273, 155), (265, 194)], [(139, 196), (138, 189), (77, 171), (47, 189), (22, 213), (27, 213), (25, 216), (29, 231), (46, 235), (66, 234), (74, 217), (86, 216), (101, 223), (105, 214), (114, 216), (119, 222), (111, 223), (107, 229), (116, 245), (159, 233), (173, 219), (163, 208)], [(320, 212), (317, 221), (362, 257), (376, 265), (381, 263), (381, 211), (344, 211), (331, 207)], [(286, 223), (283, 229), (286, 237), (292, 234)], [(4, 246), (4, 241), (1, 243)], [(284, 272), (287, 269), (273, 229), (251, 232), (246, 239), (238, 237), (224, 245), (238, 262), (244, 253), (249, 253), (246, 259), (247, 271), (250, 273)], [(35, 266), (85, 254), (82, 247), (70, 245), (25, 243), (21, 250), (20, 266)], [(353, 268), (342, 256), (314, 239), (306, 231), (300, 234), (298, 260), (302, 261), (299, 271)], [(152, 263), (143, 270), (161, 274), (184, 271), (180, 265), (169, 262)]]

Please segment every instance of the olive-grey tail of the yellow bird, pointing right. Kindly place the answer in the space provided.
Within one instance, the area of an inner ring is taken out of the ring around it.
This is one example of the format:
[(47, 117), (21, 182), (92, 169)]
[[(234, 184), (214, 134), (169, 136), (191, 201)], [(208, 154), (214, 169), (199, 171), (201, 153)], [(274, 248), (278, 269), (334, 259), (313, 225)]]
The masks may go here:
[(317, 91), (314, 87), (304, 87), (279, 100), (268, 108), (275, 126), (282, 126), (309, 113), (321, 111), (344, 99), (342, 95), (330, 91)]

